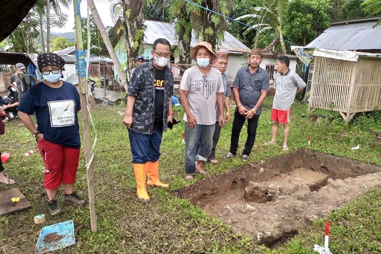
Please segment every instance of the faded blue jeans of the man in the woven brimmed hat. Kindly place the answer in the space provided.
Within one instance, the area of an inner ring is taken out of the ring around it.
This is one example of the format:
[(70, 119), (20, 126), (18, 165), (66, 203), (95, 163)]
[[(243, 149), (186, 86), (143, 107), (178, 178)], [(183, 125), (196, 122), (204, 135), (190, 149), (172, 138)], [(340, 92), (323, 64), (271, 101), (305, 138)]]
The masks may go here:
[[(185, 123), (185, 173), (196, 173), (196, 160), (207, 162), (213, 145), (213, 133), (215, 124), (196, 124), (196, 128), (190, 130)], [(200, 148), (196, 151), (196, 147)]]

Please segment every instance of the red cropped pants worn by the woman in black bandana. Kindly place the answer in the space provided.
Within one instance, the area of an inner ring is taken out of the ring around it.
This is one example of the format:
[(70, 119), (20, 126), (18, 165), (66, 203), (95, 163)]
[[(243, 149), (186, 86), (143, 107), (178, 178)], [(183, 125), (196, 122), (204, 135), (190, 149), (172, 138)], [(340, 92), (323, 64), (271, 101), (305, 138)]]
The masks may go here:
[(45, 139), (37, 144), (45, 164), (44, 187), (56, 189), (61, 183), (74, 183), (80, 148), (58, 145)]

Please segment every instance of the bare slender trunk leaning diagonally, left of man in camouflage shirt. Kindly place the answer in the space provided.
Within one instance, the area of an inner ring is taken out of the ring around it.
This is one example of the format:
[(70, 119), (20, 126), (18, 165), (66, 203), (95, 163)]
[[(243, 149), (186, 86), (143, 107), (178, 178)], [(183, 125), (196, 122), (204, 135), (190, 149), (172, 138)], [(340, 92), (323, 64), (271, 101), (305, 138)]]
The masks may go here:
[(127, 83), (126, 83), (125, 74), (123, 72), (122, 67), (120, 66), (119, 59), (118, 59), (118, 57), (115, 54), (114, 48), (113, 48), (113, 46), (111, 44), (111, 41), (110, 41), (110, 38), (109, 38), (109, 36), (107, 34), (106, 28), (105, 28), (105, 26), (102, 23), (101, 17), (99, 16), (99, 13), (98, 13), (97, 8), (96, 8), (96, 6), (94, 4), (94, 1), (93, 0), (87, 0), (87, 3), (89, 5), (89, 7), (90, 7), (91, 14), (94, 17), (94, 20), (95, 20), (95, 22), (96, 22), (96, 24), (98, 26), (98, 29), (99, 29), (99, 31), (100, 31), (100, 33), (102, 35), (103, 41), (105, 42), (107, 51), (109, 52), (109, 54), (111, 56), (111, 59), (114, 62), (114, 66), (116, 68), (116, 72), (119, 75), (120, 81), (121, 81), (124, 89), (127, 91)]

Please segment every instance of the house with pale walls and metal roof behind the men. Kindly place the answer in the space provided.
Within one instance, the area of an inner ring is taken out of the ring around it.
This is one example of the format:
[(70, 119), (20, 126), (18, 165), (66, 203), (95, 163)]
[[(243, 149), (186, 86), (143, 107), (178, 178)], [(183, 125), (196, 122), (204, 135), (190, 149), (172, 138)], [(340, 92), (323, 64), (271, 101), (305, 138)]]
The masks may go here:
[[(119, 31), (119, 34), (111, 34), (110, 40), (114, 46), (115, 53), (121, 63), (125, 63), (127, 60), (127, 54), (125, 49), (125, 37), (122, 36), (123, 29), (118, 29), (121, 25), (121, 20), (118, 19), (114, 26), (114, 31)], [(165, 38), (169, 41), (171, 46), (177, 46), (178, 40), (175, 36), (175, 25), (153, 20), (145, 20), (144, 25), (146, 29), (144, 31), (144, 53), (143, 56), (145, 59), (150, 59), (152, 57), (151, 50), (153, 42), (157, 38)], [(199, 43), (200, 40), (196, 38), (196, 34), (192, 31), (192, 40), (190, 42), (190, 47), (194, 47)], [(229, 54), (229, 64), (227, 68), (227, 73), (231, 77), (235, 77), (237, 71), (247, 65), (247, 57), (245, 54), (250, 52), (250, 49), (235, 38), (228, 31), (224, 31), (224, 41), (220, 43), (217, 51), (227, 52)], [(263, 69), (275, 69), (277, 55), (274, 54), (264, 54), (264, 60), (261, 63)], [(178, 62), (178, 59), (171, 58), (171, 61)], [(193, 62), (193, 64), (196, 64)], [(296, 69), (296, 57), (291, 59), (290, 68), (295, 71)], [(179, 70), (173, 68), (173, 73), (178, 75)], [(117, 79), (117, 73), (115, 72), (115, 79)]]

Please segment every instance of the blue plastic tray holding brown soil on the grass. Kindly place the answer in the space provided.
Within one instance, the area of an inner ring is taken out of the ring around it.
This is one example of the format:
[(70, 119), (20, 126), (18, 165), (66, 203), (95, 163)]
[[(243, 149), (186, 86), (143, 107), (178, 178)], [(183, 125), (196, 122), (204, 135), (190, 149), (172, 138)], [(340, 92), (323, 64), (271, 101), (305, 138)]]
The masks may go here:
[(47, 253), (74, 244), (74, 223), (73, 220), (68, 220), (42, 228), (36, 244), (36, 253)]

